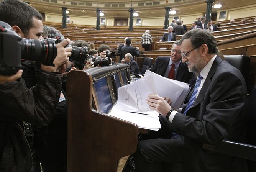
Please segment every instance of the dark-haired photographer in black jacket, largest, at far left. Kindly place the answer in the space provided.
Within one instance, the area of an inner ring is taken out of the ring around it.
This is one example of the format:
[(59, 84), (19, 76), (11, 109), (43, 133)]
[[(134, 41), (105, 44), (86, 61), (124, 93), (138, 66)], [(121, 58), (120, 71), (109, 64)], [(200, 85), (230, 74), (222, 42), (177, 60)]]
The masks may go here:
[[(42, 39), (41, 20), (40, 13), (27, 3), (20, 0), (0, 2), (0, 21), (10, 24), (23, 38)], [(45, 126), (53, 119), (62, 81), (62, 75), (57, 74), (56, 70), (67, 62), (68, 56), (71, 55), (72, 48), (64, 47), (69, 41), (65, 39), (56, 45), (57, 56), (53, 62), (54, 67), (41, 65), (41, 69), (36, 73), (35, 87), (26, 88), (22, 78), (5, 84), (1, 82), (0, 171), (28, 172), (31, 169), (32, 157), (23, 133), (22, 121)], [(21, 75), (20, 72), (21, 70), (14, 77)]]

